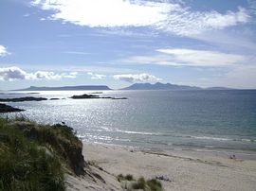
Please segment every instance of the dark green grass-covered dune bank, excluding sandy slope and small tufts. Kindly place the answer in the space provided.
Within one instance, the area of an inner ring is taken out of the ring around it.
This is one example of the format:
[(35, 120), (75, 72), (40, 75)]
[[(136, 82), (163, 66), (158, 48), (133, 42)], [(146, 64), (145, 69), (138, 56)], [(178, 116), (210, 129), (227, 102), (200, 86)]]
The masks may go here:
[(84, 164), (73, 129), (0, 118), (0, 190), (64, 190), (64, 173)]

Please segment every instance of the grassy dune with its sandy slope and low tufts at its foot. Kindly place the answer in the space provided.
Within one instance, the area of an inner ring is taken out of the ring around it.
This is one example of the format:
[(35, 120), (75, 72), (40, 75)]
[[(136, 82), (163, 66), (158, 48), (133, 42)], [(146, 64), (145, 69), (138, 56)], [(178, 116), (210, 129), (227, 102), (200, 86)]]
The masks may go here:
[[(84, 162), (82, 141), (72, 128), (41, 125), (26, 118), (0, 118), (0, 191), (63, 191), (66, 186), (75, 190), (72, 184), (79, 183), (83, 183), (79, 190), (115, 190), (113, 182), (118, 183), (118, 190), (162, 190), (156, 180), (116, 177), (93, 169), (94, 165)], [(81, 179), (68, 184), (67, 174), (73, 177), (71, 181)]]

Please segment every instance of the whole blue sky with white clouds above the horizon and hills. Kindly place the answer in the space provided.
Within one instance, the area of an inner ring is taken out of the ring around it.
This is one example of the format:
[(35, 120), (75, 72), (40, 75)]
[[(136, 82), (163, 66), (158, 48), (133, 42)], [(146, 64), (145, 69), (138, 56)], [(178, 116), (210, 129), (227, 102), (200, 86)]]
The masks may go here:
[(256, 0), (1, 0), (0, 90), (256, 88)]

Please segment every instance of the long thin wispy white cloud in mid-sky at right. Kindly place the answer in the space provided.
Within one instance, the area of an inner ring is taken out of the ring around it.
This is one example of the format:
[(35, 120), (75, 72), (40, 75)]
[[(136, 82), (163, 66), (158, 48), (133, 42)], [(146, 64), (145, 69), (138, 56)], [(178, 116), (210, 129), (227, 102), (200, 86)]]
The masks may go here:
[[(155, 56), (134, 56), (121, 62), (174, 66), (227, 66), (247, 61), (245, 56), (193, 49), (157, 49)], [(159, 54), (160, 53), (160, 54)]]

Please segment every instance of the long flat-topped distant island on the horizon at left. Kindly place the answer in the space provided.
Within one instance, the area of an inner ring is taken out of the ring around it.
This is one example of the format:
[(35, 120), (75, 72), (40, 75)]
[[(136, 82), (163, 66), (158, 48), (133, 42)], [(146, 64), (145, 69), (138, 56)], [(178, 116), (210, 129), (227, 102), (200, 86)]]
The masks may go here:
[(63, 87), (36, 87), (13, 90), (13, 91), (66, 91), (66, 90), (111, 90), (105, 85), (82, 85), (82, 86), (63, 86)]

